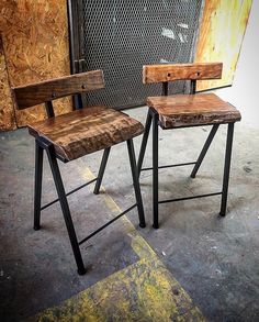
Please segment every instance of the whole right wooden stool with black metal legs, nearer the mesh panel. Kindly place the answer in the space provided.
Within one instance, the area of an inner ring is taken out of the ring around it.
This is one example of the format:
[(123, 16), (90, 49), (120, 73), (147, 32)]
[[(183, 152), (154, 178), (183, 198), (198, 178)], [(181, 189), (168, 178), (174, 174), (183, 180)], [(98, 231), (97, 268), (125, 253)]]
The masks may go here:
[[(221, 63), (149, 65), (143, 67), (143, 82), (161, 82), (162, 96), (147, 98), (149, 107), (138, 158), (138, 174), (142, 170), (153, 169), (153, 215), (154, 227), (158, 229), (158, 204), (188, 200), (202, 197), (222, 195), (221, 215), (226, 213), (228, 179), (232, 157), (234, 124), (240, 121), (240, 113), (229, 103), (213, 93), (195, 93), (196, 80), (217, 79), (222, 77)], [(168, 96), (168, 82), (174, 80), (190, 80), (190, 95)], [(153, 167), (142, 168), (146, 144), (153, 122)], [(191, 177), (194, 178), (201, 163), (212, 143), (219, 124), (228, 124), (225, 154), (223, 189), (200, 196), (184, 197), (169, 200), (158, 200), (158, 169), (184, 165), (193, 165)], [(169, 166), (158, 166), (158, 126), (162, 130), (213, 125), (202, 152), (194, 163), (184, 163)]]

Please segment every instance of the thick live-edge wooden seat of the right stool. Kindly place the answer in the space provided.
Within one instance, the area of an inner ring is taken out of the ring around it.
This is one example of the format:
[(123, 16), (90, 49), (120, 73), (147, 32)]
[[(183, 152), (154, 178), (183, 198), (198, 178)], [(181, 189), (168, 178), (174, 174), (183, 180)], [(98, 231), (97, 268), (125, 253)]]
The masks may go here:
[(162, 129), (240, 121), (239, 111), (213, 93), (149, 97)]

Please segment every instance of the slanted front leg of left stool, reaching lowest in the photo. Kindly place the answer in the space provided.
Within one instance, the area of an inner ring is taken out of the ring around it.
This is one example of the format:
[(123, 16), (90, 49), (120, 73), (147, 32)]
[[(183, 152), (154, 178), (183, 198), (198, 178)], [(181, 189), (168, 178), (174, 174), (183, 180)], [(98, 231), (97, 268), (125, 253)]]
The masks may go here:
[(47, 147), (46, 152), (47, 152), (49, 165), (50, 165), (50, 168), (52, 168), (55, 186), (56, 186), (56, 189), (57, 189), (57, 195), (58, 195), (58, 198), (59, 198), (59, 202), (60, 202), (60, 206), (61, 206), (64, 219), (65, 219), (65, 222), (66, 222), (68, 235), (69, 235), (69, 238), (70, 238), (74, 256), (75, 256), (75, 259), (76, 259), (76, 263), (77, 263), (78, 274), (83, 275), (86, 273), (86, 268), (85, 268), (85, 265), (83, 265), (83, 262), (82, 262), (81, 252), (80, 252), (79, 244), (78, 244), (78, 241), (77, 241), (77, 235), (76, 235), (76, 232), (75, 232), (75, 227), (74, 227), (69, 206), (68, 206), (68, 202), (67, 202), (67, 197), (66, 197), (66, 192), (65, 192), (65, 189), (64, 189), (63, 179), (61, 179), (60, 171), (59, 171), (58, 164), (57, 164), (57, 159), (56, 159), (56, 156), (55, 156), (54, 147), (53, 146)]

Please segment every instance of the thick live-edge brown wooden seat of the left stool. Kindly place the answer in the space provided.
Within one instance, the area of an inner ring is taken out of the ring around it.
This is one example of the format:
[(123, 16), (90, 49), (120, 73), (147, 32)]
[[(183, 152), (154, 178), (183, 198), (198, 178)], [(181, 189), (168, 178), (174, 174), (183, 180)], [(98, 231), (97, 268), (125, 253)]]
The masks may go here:
[(47, 138), (58, 155), (71, 160), (137, 136), (144, 126), (125, 113), (93, 107), (36, 122), (29, 131)]

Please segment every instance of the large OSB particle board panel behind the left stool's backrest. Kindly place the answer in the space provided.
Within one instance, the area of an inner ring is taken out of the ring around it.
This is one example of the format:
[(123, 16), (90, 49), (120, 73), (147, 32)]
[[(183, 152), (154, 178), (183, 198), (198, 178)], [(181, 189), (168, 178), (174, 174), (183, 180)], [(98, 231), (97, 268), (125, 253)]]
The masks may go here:
[[(66, 0), (1, 0), (3, 47), (11, 86), (69, 75)], [(70, 100), (57, 101), (57, 114), (71, 110)], [(18, 126), (45, 115), (43, 107), (15, 111)]]

